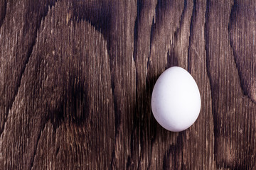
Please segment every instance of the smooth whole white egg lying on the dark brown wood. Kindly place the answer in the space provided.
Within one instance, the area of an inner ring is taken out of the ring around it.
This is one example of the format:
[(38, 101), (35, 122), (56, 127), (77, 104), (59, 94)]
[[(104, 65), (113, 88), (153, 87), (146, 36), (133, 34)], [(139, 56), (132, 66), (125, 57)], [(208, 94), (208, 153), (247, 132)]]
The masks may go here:
[(191, 74), (181, 67), (164, 71), (151, 96), (156, 121), (166, 130), (181, 132), (195, 123), (201, 109), (201, 96)]

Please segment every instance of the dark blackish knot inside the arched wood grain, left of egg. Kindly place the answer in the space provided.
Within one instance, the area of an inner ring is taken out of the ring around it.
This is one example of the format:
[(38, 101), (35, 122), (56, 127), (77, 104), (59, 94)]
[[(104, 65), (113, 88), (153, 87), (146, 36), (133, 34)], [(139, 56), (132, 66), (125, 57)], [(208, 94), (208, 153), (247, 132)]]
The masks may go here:
[(86, 84), (78, 79), (70, 79), (63, 90), (59, 100), (50, 106), (50, 120), (54, 129), (63, 122), (82, 125), (89, 112)]

